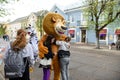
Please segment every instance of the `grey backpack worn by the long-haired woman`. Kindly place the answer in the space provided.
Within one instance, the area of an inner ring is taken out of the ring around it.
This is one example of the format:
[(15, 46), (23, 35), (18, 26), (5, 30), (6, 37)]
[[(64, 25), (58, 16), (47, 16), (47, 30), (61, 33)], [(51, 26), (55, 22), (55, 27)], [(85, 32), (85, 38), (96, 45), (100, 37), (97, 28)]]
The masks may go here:
[(27, 61), (24, 63), (22, 54), (23, 49), (16, 52), (10, 48), (7, 51), (6, 58), (4, 59), (5, 78), (16, 78), (23, 76)]

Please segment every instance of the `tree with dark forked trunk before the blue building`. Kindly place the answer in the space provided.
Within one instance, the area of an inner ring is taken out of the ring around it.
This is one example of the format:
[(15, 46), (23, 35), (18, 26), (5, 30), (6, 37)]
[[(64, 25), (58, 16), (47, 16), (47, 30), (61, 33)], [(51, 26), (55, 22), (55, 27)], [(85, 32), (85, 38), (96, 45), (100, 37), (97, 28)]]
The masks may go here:
[(97, 40), (96, 48), (99, 49), (99, 33), (108, 24), (120, 17), (120, 1), (86, 0), (85, 3), (87, 6), (84, 8), (84, 11), (87, 16), (88, 26), (94, 27)]

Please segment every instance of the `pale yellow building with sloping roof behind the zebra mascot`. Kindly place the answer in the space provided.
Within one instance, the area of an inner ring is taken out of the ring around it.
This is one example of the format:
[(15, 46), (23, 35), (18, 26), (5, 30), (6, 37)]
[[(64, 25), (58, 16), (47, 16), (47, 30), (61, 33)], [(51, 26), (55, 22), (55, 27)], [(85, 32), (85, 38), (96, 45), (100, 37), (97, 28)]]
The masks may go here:
[(26, 27), (31, 25), (32, 27), (35, 28), (38, 38), (40, 38), (40, 35), (41, 33), (43, 33), (43, 30), (39, 30), (39, 29), (42, 29), (42, 19), (47, 12), (48, 12), (47, 10), (32, 12), (30, 15), (26, 17), (21, 17), (8, 23), (6, 29), (7, 34), (11, 39), (14, 39), (16, 36), (16, 31), (18, 29), (21, 28), (25, 29)]

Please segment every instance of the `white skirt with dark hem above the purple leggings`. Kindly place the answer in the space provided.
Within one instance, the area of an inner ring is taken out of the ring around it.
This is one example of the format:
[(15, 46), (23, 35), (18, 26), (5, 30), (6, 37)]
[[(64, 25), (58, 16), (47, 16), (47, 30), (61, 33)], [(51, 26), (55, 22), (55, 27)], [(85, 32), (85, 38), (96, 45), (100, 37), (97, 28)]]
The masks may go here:
[(52, 59), (51, 58), (47, 59), (46, 57), (44, 57), (43, 59), (40, 59), (39, 68), (50, 68), (51, 64)]

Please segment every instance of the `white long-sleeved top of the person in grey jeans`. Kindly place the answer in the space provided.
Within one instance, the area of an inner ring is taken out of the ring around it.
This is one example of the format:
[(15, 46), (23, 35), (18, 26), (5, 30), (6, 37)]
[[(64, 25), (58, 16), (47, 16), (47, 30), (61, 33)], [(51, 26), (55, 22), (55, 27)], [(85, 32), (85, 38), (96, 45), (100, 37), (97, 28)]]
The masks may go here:
[(59, 45), (59, 50), (69, 51), (70, 43), (65, 41), (56, 41), (56, 44)]

